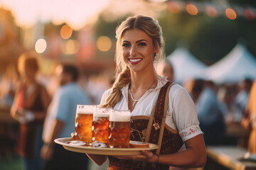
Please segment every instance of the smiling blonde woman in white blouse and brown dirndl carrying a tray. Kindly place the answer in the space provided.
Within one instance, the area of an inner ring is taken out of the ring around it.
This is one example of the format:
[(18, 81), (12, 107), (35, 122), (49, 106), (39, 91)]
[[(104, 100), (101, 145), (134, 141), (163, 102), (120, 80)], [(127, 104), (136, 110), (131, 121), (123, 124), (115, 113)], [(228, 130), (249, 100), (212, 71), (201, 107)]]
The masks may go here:
[[(156, 74), (154, 62), (164, 56), (164, 40), (158, 21), (147, 16), (129, 17), (117, 27), (116, 38), (116, 79), (112, 88), (103, 94), (101, 104), (119, 110), (129, 109), (133, 129), (131, 140), (155, 144), (161, 140), (161, 149), (129, 157), (88, 156), (97, 164), (108, 158), (109, 169), (203, 166), (206, 147), (191, 97), (183, 87), (171, 86), (170, 81)], [(166, 118), (160, 101), (165, 95), (168, 98)], [(159, 135), (161, 132), (163, 134)], [(183, 143), (186, 149), (178, 152)]]

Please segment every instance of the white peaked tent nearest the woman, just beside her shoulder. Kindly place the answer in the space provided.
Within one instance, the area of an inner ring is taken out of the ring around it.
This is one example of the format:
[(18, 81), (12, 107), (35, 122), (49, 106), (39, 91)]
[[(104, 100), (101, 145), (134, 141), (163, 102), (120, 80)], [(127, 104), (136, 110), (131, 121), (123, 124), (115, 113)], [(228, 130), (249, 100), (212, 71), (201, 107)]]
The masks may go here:
[(187, 79), (205, 78), (207, 66), (196, 59), (184, 47), (178, 47), (174, 52), (167, 56), (174, 65), (174, 81), (182, 83)]

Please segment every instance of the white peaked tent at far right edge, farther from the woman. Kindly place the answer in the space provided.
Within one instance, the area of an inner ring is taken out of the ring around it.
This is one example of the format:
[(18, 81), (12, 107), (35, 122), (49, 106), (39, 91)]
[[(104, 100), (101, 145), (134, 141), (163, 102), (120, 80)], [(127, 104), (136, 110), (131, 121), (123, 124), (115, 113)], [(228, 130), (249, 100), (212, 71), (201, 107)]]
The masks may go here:
[(216, 83), (241, 81), (245, 77), (256, 78), (256, 60), (244, 45), (236, 45), (228, 55), (208, 67), (207, 78)]

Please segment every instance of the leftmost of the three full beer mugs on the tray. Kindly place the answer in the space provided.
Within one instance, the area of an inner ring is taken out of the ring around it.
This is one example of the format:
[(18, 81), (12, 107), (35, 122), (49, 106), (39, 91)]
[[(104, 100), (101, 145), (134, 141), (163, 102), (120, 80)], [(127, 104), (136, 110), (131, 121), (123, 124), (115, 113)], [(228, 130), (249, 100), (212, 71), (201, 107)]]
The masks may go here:
[(75, 138), (92, 145), (93, 105), (77, 105), (75, 116)]

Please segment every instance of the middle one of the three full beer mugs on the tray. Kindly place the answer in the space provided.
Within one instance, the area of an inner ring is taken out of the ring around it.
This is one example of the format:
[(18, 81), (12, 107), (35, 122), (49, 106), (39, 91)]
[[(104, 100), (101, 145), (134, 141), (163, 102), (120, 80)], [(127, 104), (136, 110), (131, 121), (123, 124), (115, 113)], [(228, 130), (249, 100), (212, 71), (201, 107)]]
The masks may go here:
[(107, 144), (109, 142), (109, 125), (111, 108), (101, 108), (96, 106), (93, 111), (92, 119), (92, 142), (102, 142)]

